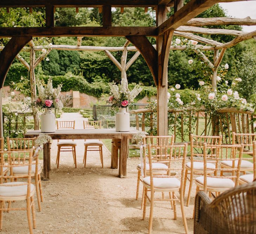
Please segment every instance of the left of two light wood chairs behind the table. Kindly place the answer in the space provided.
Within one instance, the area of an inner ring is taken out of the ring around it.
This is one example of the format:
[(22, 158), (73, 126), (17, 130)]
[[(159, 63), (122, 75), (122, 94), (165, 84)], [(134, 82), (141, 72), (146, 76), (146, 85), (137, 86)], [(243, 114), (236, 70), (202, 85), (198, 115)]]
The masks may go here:
[[(58, 121), (57, 120), (57, 129), (75, 129), (76, 121)], [(75, 168), (77, 168), (77, 155), (76, 155), (76, 146), (77, 143), (74, 140), (58, 140), (58, 153), (56, 158), (57, 168), (59, 168), (60, 163), (60, 152), (72, 152), (73, 161)], [(62, 149), (62, 150), (61, 150)]]

